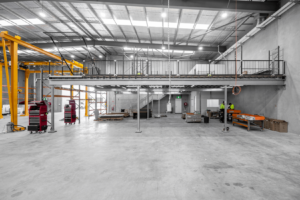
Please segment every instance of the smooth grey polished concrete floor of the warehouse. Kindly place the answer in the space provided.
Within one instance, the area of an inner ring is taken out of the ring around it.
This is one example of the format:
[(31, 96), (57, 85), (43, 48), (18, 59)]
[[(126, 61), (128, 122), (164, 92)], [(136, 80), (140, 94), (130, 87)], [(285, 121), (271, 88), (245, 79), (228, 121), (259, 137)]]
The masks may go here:
[(135, 133), (132, 118), (65, 126), (57, 113), (57, 133), (1, 133), (0, 199), (300, 198), (299, 135), (180, 117), (141, 120)]

